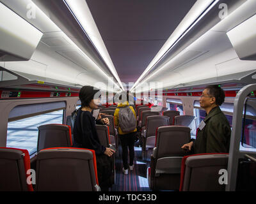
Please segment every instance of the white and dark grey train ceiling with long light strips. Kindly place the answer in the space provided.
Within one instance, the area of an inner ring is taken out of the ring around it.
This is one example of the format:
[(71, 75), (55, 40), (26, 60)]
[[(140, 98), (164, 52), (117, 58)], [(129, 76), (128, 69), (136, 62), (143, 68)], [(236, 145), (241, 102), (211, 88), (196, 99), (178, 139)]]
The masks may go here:
[[(102, 82), (113, 92), (133, 82), (129, 89), (140, 92), (143, 82), (175, 89), (243, 78), (256, 68), (255, 61), (239, 59), (226, 34), (255, 15), (255, 1), (0, 2), (43, 33), (29, 61), (0, 62), (20, 74), (78, 87)], [(28, 18), (34, 3), (36, 18)], [(223, 19), (220, 4), (228, 8)]]

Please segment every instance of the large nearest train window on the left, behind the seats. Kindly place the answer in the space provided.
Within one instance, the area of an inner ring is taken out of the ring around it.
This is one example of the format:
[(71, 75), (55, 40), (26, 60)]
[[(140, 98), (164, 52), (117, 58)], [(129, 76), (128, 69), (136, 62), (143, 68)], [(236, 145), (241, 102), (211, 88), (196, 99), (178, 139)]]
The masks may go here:
[(58, 110), (26, 119), (8, 122), (6, 147), (28, 149), (29, 155), (36, 152), (38, 126), (63, 124), (64, 110)]

